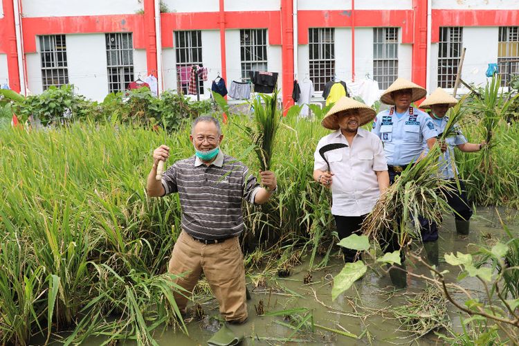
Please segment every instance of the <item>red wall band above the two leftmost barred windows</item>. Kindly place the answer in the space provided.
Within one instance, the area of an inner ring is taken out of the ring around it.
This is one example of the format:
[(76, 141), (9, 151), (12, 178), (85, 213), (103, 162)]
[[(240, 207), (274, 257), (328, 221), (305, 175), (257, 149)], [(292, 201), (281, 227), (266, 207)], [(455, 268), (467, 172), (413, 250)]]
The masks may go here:
[(36, 52), (37, 35), (133, 33), (134, 48), (147, 48), (144, 15), (35, 17), (22, 19), (25, 53)]

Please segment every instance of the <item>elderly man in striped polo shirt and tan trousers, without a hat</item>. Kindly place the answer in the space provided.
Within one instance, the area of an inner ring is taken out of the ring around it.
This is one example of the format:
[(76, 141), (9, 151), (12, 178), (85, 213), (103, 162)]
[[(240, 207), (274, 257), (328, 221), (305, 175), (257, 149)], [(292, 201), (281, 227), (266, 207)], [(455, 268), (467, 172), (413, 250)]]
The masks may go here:
[[(194, 289), (203, 271), (215, 294), (221, 314), (228, 322), (247, 320), (245, 269), (238, 235), (244, 230), (242, 199), (262, 204), (277, 188), (273, 172), (260, 172), (260, 182), (243, 163), (220, 150), (224, 136), (217, 119), (201, 116), (194, 120), (190, 140), (195, 154), (176, 161), (157, 181), (158, 162), (165, 161), (170, 148), (161, 145), (153, 153), (154, 165), (147, 179), (151, 197), (179, 193), (182, 231), (173, 248), (168, 271), (187, 273), (176, 283)], [(188, 303), (176, 294), (183, 313)]]

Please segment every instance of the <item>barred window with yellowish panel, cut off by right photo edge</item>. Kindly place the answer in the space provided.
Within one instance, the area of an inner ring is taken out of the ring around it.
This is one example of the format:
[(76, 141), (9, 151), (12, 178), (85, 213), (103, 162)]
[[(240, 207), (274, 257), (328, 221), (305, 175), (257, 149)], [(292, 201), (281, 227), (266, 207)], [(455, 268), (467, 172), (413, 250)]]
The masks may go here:
[(501, 86), (507, 86), (519, 74), (519, 26), (499, 28), (498, 67)]

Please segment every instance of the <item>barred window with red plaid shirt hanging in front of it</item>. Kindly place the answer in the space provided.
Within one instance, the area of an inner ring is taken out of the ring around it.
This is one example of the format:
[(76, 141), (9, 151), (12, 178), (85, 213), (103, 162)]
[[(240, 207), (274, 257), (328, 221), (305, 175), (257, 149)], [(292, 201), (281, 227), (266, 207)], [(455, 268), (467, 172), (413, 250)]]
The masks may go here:
[[(201, 30), (175, 31), (176, 85), (188, 93), (191, 66), (202, 64)], [(203, 94), (203, 80), (199, 78), (199, 93)]]

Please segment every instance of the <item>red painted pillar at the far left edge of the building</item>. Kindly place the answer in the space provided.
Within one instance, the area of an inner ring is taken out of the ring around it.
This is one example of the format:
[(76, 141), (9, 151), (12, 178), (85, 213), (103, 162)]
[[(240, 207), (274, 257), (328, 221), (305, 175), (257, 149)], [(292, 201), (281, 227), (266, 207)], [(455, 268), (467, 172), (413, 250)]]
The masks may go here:
[(3, 18), (0, 19), (0, 53), (7, 54), (9, 87), (20, 92), (20, 73), (15, 28), (15, 8), (12, 0), (3, 0)]

